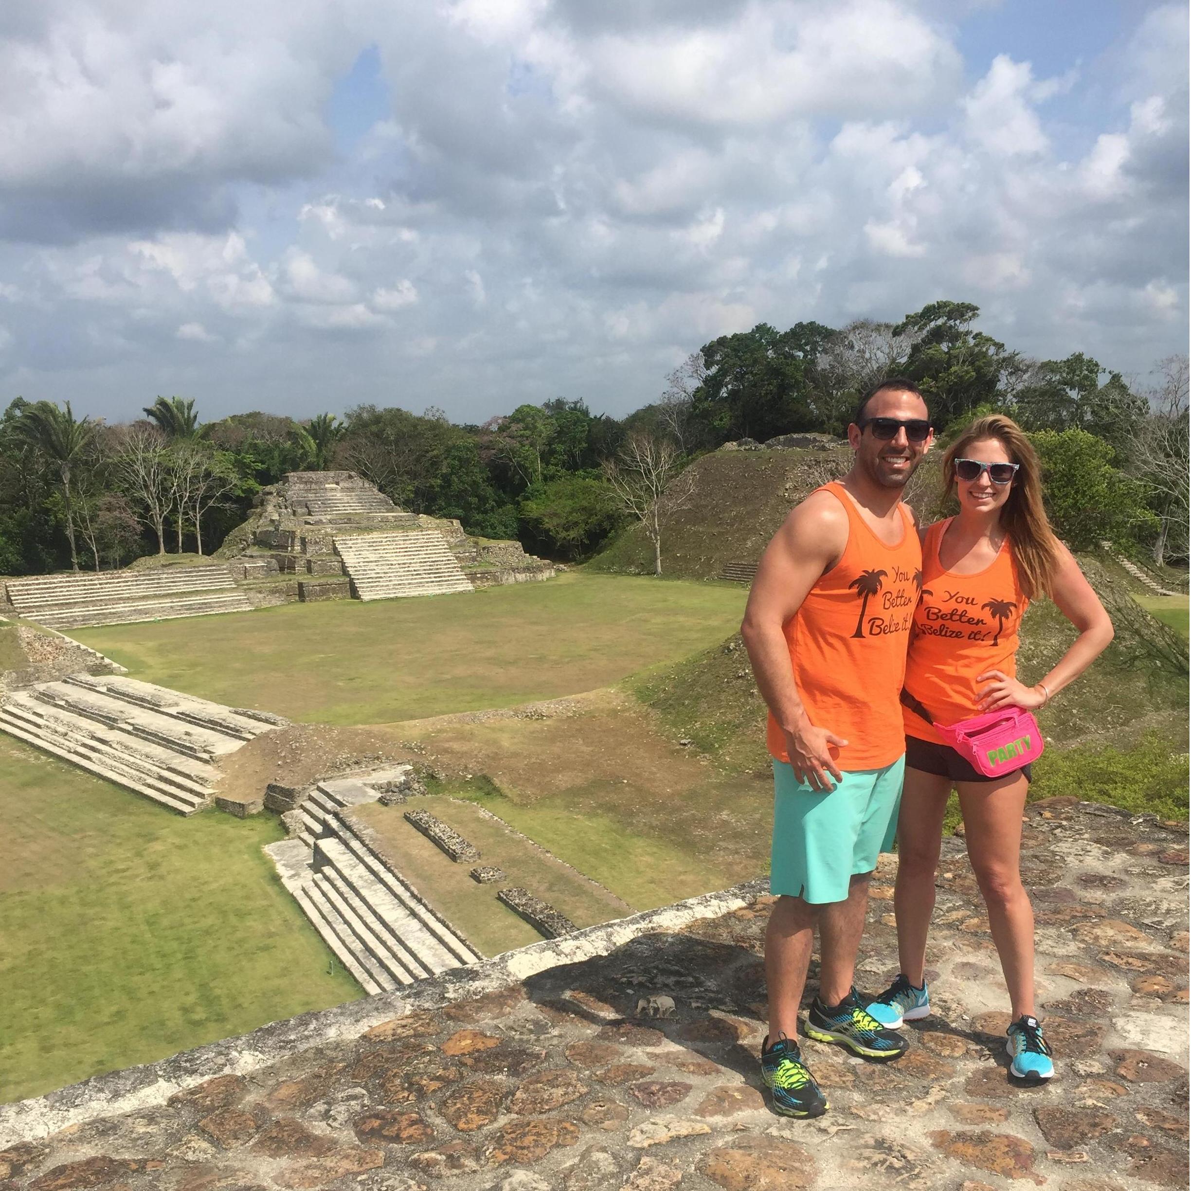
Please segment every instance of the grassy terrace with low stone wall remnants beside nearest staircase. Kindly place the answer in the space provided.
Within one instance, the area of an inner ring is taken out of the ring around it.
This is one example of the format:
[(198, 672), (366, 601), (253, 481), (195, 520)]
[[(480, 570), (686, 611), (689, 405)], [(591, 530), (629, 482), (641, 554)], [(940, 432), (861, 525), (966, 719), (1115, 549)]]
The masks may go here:
[(528, 888), (579, 927), (593, 927), (630, 912), (624, 902), (569, 866), (544, 855), (479, 806), (441, 796), (419, 798), (413, 805), (453, 827), (480, 849), (481, 863), (495, 865), (509, 879), (499, 884), (476, 884), (468, 877), (472, 865), (456, 865), (437, 844), (406, 823), (403, 806), (373, 803), (361, 806), (356, 813), (384, 838), (403, 875), (485, 955), (542, 941), (524, 918), (497, 900), (497, 890), (509, 885)]

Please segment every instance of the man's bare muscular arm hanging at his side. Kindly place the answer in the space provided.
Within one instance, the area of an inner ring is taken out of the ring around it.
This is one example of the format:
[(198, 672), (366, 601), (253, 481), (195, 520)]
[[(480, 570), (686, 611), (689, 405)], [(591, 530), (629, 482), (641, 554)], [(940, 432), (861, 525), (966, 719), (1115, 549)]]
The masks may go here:
[(830, 790), (841, 780), (830, 746), (847, 744), (829, 724), (812, 724), (798, 697), (785, 624), (819, 576), (838, 562), (848, 543), (848, 515), (829, 493), (813, 493), (794, 509), (761, 556), (749, 593), (741, 636), (761, 697), (786, 738), (794, 775)]

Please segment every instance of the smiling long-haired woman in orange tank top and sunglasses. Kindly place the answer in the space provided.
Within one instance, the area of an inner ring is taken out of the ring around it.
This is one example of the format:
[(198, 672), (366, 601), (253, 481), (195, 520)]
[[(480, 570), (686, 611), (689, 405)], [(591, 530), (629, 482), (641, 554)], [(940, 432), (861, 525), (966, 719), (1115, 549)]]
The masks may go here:
[[(1035, 1011), (1034, 911), (1018, 865), (1030, 767), (986, 778), (933, 724), (1045, 706), (1103, 651), (1112, 622), (1047, 522), (1037, 455), (1016, 423), (1000, 414), (978, 418), (947, 451), (943, 473), (960, 511), (923, 532), (903, 696), (905, 786), (894, 892), (902, 971), (868, 1012), (891, 1028), (930, 1012), (927, 933), (943, 811), (954, 787), (1012, 1004), (1010, 1071), (1037, 1083), (1054, 1074), (1054, 1064)], [(1017, 629), (1029, 600), (1043, 594), (1079, 636), (1041, 682), (1023, 686), (1015, 676)]]

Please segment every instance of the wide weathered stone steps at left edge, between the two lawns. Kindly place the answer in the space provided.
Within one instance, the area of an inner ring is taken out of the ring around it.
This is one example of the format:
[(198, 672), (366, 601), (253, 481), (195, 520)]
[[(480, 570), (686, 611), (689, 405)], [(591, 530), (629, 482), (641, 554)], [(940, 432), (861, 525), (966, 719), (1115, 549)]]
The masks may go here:
[(218, 757), (285, 723), (121, 676), (74, 674), (0, 698), (0, 731), (180, 815), (210, 804)]

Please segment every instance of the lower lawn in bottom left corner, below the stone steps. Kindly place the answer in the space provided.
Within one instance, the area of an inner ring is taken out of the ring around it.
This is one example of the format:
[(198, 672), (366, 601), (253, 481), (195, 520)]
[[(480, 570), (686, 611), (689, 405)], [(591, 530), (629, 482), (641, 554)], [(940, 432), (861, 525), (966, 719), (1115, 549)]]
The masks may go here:
[(0, 1102), (361, 996), (262, 844), (0, 736)]

